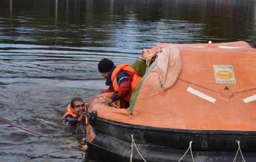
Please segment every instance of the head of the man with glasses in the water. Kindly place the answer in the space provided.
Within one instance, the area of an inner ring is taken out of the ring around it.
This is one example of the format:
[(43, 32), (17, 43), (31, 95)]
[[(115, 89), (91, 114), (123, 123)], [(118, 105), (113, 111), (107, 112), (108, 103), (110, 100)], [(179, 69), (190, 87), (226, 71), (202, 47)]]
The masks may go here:
[(86, 107), (83, 99), (81, 99), (79, 97), (71, 99), (70, 105), (71, 105), (71, 108), (73, 109), (74, 113), (78, 117), (80, 117), (83, 114), (85, 107)]

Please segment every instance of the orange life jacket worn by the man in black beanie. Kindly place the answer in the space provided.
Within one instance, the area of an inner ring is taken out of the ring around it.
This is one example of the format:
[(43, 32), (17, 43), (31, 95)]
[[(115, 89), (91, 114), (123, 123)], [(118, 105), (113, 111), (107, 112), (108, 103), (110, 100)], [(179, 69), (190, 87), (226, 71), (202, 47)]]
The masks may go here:
[(113, 88), (115, 91), (118, 90), (117, 74), (120, 70), (129, 71), (134, 74), (132, 77), (132, 81), (131, 81), (132, 90), (129, 93), (129, 95), (124, 98), (125, 101), (129, 102), (132, 92), (135, 90), (136, 86), (139, 84), (141, 77), (138, 76), (137, 72), (133, 68), (128, 67), (128, 63), (123, 63), (123, 64), (117, 66), (111, 75), (111, 81), (112, 81), (112, 85), (113, 85)]

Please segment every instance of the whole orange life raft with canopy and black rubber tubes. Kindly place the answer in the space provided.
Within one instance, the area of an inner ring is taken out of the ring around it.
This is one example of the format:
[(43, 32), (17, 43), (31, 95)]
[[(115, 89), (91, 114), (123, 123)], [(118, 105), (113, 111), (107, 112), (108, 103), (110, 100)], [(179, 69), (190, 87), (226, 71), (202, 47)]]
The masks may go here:
[[(246, 42), (158, 44), (129, 109), (90, 101), (89, 149), (122, 161), (256, 161), (256, 50)], [(142, 52), (142, 54), (143, 54)], [(238, 142), (239, 141), (239, 142)], [(105, 154), (104, 154), (105, 153)], [(133, 160), (141, 161), (133, 148)], [(192, 161), (191, 155), (185, 160)]]

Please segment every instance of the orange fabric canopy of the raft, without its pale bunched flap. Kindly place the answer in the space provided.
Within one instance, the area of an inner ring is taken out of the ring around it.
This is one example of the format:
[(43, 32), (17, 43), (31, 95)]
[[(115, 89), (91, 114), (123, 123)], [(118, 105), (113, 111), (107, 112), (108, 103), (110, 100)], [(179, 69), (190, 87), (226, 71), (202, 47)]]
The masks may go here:
[(182, 60), (182, 70), (173, 86), (163, 91), (161, 72), (156, 66), (141, 84), (133, 115), (125, 109), (95, 103), (95, 98), (90, 101), (93, 104), (89, 110), (97, 110), (101, 118), (136, 125), (256, 131), (254, 48), (242, 41), (158, 44), (147, 52), (153, 54), (166, 45), (176, 46)]

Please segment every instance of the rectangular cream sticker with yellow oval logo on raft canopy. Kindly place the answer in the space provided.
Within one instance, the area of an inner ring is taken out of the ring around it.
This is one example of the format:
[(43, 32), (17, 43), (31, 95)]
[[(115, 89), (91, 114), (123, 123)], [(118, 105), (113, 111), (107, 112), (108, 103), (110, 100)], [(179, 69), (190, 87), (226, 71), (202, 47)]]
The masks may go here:
[(213, 69), (216, 83), (236, 83), (233, 66), (214, 64)]

